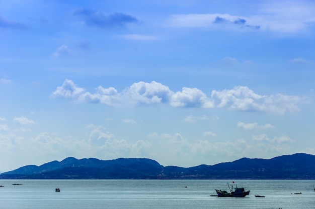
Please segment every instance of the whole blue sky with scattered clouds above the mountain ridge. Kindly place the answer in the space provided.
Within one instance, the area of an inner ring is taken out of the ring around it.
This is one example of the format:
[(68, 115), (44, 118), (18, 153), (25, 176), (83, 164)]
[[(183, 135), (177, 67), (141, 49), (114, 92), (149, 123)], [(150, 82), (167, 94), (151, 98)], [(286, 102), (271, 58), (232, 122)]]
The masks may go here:
[(315, 154), (313, 1), (0, 2), (0, 170)]

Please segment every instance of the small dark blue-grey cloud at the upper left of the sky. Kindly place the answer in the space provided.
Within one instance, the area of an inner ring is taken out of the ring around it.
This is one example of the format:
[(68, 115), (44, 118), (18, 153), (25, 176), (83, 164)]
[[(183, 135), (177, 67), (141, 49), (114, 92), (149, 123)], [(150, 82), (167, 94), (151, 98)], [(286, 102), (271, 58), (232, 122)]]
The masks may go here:
[(77, 9), (73, 12), (74, 16), (79, 16), (87, 26), (99, 28), (125, 27), (129, 23), (136, 23), (138, 20), (124, 13), (105, 14), (101, 11), (90, 9)]

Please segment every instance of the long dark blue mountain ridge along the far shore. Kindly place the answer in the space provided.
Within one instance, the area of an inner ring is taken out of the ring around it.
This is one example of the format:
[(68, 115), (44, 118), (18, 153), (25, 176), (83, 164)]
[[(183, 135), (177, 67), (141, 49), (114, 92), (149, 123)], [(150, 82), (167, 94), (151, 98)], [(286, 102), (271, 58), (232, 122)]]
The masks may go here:
[(296, 153), (272, 159), (241, 158), (215, 165), (163, 166), (147, 158), (67, 157), (1, 173), (0, 179), (315, 179), (315, 155)]

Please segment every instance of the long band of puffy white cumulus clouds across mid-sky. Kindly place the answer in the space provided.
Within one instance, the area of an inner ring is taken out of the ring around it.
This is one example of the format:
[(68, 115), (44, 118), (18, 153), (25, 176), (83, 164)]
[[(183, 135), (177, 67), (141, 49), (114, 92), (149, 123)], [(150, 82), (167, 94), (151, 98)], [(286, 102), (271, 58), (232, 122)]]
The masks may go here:
[[(306, 101), (305, 97), (299, 96), (259, 95), (247, 86), (235, 86), (233, 89), (221, 91), (212, 90), (209, 96), (197, 88), (183, 87), (182, 91), (173, 92), (168, 86), (155, 81), (134, 83), (122, 92), (118, 92), (113, 87), (103, 88), (99, 86), (95, 93), (90, 93), (84, 88), (77, 87), (73, 81), (68, 79), (65, 79), (63, 84), (57, 87), (51, 97), (109, 106), (163, 103), (172, 107), (227, 108), (279, 114), (298, 111), (298, 105)], [(190, 119), (196, 120), (196, 118)]]

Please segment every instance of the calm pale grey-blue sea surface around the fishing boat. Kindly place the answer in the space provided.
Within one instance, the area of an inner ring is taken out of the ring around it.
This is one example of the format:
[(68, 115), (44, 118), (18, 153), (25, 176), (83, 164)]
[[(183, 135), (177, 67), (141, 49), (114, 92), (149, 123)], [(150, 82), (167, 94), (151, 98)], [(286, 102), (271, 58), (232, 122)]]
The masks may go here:
[[(0, 209), (315, 208), (314, 180), (233, 181), (0, 179)], [(227, 183), (243, 185), (250, 195), (211, 196)]]

